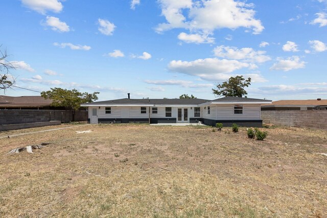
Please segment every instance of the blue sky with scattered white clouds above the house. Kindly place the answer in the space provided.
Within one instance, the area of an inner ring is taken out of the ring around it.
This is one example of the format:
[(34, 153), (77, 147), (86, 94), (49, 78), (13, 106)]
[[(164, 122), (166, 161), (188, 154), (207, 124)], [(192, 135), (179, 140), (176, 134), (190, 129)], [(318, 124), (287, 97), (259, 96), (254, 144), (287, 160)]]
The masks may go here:
[(327, 0), (2, 0), (2, 9), (1, 50), (21, 88), (214, 99), (215, 83), (244, 75), (248, 97), (327, 98)]

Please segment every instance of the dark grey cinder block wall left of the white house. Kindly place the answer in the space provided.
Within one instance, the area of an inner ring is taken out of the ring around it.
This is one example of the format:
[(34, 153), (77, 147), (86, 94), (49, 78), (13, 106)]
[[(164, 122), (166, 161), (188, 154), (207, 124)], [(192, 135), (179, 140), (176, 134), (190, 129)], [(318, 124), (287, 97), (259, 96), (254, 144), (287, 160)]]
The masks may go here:
[[(78, 111), (75, 114), (75, 121), (87, 121), (87, 118), (87, 111)], [(0, 125), (48, 121), (68, 123), (69, 121), (73, 121), (73, 115), (71, 111), (0, 110)]]

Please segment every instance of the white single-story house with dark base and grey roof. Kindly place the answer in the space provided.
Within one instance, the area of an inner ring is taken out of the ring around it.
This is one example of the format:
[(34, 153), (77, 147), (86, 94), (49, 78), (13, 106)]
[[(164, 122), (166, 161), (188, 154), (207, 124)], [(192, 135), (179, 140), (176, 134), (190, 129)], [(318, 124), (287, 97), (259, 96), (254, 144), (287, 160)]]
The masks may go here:
[(223, 123), (262, 126), (261, 104), (271, 100), (224, 97), (206, 99), (116, 99), (85, 103), (89, 123)]

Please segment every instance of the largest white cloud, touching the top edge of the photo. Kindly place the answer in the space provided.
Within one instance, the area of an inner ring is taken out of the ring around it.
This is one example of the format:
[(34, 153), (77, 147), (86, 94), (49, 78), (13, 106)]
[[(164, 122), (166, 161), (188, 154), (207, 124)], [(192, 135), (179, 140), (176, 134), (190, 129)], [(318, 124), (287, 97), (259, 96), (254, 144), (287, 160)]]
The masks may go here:
[(255, 19), (253, 4), (235, 2), (233, 0), (159, 0), (161, 15), (167, 23), (159, 24), (157, 32), (174, 28), (185, 28), (192, 32), (213, 33), (214, 30), (240, 27), (252, 29), (259, 34), (264, 27), (259, 19)]

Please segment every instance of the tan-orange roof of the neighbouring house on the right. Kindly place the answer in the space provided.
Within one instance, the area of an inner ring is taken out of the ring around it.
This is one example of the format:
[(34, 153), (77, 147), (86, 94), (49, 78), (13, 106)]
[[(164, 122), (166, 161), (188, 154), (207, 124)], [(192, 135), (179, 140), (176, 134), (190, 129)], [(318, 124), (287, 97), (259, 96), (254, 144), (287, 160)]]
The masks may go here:
[(279, 100), (273, 101), (271, 104), (263, 104), (262, 107), (288, 107), (288, 106), (318, 106), (327, 105), (327, 99), (310, 99), (310, 100)]

